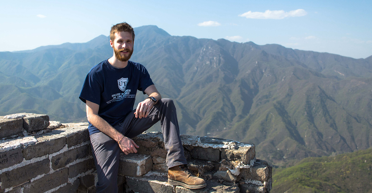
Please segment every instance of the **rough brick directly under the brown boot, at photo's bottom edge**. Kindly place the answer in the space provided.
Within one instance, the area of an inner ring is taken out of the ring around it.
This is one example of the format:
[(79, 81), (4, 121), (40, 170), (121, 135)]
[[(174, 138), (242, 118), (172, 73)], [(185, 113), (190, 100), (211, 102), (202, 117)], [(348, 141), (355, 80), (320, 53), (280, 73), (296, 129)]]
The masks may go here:
[(240, 193), (240, 189), (236, 185), (225, 186), (214, 181), (207, 181), (206, 183), (206, 187), (194, 190), (176, 186), (176, 193)]

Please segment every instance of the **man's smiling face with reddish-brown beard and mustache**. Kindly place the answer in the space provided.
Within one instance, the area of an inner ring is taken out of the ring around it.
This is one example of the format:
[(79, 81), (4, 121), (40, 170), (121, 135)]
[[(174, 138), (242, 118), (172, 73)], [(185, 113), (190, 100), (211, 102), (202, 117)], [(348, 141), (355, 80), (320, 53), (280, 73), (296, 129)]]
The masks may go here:
[(126, 62), (128, 61), (133, 53), (133, 38), (130, 32), (118, 32), (115, 33), (115, 39), (110, 45), (114, 49), (115, 58)]

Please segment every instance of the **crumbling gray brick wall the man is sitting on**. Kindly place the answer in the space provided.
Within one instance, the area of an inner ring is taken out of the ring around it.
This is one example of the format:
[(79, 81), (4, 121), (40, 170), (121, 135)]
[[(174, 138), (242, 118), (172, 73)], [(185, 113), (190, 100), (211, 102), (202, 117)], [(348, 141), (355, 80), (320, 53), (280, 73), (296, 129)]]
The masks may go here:
[[(87, 123), (49, 122), (47, 115), (0, 117), (0, 193), (94, 193), (97, 181)], [(207, 187), (189, 190), (167, 184), (161, 132), (134, 138), (137, 154), (121, 155), (119, 192), (269, 192), (272, 167), (256, 159), (254, 144), (181, 135), (189, 169)]]

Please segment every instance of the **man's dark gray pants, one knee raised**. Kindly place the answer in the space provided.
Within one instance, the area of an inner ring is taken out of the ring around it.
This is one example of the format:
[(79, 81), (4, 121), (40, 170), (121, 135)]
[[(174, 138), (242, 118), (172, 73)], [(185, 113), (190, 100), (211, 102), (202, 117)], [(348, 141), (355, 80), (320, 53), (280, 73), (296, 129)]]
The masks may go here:
[[(160, 121), (167, 150), (168, 168), (187, 164), (180, 139), (176, 108), (171, 99), (164, 98), (158, 101), (146, 118), (135, 118), (134, 112), (135, 110), (129, 113), (125, 120), (115, 125), (114, 128), (125, 137), (133, 138)], [(102, 132), (90, 135), (90, 141), (98, 176), (97, 193), (118, 192), (119, 158), (122, 152), (118, 143)]]

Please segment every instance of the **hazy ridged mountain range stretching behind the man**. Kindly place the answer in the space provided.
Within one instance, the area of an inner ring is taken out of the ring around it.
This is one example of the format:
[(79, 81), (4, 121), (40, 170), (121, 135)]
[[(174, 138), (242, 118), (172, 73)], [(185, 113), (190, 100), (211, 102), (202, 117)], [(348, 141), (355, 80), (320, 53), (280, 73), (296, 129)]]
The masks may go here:
[[(353, 59), (280, 45), (171, 36), (135, 28), (131, 60), (177, 105), (180, 132), (256, 144), (271, 164), (372, 146), (372, 56)], [(0, 52), (0, 115), (86, 121), (78, 99), (109, 37)], [(137, 101), (145, 98), (140, 92)]]

